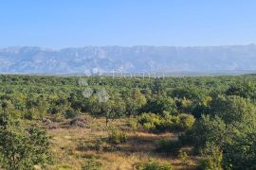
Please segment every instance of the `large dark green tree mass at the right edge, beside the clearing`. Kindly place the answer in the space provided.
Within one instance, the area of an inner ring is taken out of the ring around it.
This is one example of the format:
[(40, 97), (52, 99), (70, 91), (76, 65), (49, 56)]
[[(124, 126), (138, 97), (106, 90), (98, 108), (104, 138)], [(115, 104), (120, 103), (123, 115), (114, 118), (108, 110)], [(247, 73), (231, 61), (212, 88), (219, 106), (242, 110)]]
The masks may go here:
[(207, 149), (211, 143), (223, 151), (223, 167), (256, 167), (254, 105), (239, 96), (219, 96), (212, 106), (214, 115), (203, 116), (188, 132), (195, 149)]

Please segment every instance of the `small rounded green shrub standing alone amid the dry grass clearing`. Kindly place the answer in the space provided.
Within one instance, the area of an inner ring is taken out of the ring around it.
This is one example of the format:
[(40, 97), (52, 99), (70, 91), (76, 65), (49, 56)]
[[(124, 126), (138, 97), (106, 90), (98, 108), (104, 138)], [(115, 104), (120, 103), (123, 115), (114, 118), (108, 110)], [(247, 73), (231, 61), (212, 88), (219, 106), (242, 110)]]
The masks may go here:
[(111, 128), (108, 134), (108, 139), (113, 144), (121, 144), (127, 141), (127, 135), (117, 128)]

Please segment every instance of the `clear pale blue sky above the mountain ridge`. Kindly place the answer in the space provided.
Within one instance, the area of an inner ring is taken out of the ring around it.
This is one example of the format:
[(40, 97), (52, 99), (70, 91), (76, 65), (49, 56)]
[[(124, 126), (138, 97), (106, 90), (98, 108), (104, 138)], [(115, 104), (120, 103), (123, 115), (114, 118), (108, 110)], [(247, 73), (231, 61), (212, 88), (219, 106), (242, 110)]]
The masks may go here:
[(256, 42), (256, 0), (2, 0), (0, 47)]

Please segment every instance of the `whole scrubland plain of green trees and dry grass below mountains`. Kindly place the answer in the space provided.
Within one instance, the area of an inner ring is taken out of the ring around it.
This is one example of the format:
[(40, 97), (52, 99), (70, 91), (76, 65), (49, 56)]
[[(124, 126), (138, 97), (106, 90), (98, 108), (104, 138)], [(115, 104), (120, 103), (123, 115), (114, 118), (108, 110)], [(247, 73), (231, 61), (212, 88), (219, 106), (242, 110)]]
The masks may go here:
[(256, 76), (0, 76), (0, 168), (255, 169)]

